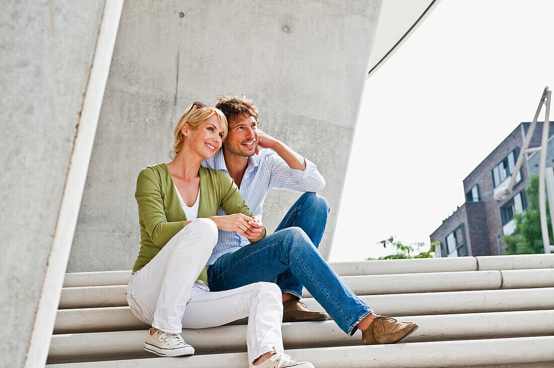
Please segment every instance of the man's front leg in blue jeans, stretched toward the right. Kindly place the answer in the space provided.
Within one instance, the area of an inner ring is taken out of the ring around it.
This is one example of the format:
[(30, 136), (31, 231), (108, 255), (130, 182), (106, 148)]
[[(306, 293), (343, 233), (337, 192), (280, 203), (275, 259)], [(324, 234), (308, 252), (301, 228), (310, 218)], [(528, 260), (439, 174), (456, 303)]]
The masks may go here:
[(321, 258), (299, 227), (289, 227), (239, 250), (223, 255), (208, 267), (212, 291), (228, 290), (258, 281), (274, 282), (287, 269), (314, 296), (347, 334), (371, 312)]

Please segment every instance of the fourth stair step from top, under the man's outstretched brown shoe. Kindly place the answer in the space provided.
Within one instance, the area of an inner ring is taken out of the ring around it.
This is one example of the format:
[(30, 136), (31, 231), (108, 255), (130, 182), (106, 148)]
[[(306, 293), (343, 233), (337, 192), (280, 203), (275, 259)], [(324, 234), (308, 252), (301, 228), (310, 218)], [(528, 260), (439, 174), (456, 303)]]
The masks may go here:
[[(419, 325), (406, 343), (554, 335), (554, 310), (400, 317)], [(196, 355), (246, 351), (245, 325), (184, 329)], [(361, 332), (348, 336), (332, 321), (283, 324), (285, 349), (361, 345)], [(143, 349), (147, 330), (54, 335), (48, 363), (152, 357)], [(218, 341), (214, 345), (214, 341)]]

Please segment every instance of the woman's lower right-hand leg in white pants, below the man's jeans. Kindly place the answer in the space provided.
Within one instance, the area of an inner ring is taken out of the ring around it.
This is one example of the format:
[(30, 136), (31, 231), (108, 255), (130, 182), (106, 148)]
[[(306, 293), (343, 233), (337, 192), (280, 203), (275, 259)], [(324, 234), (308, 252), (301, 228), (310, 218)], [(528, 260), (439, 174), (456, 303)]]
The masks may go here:
[(283, 351), (283, 303), (281, 290), (274, 283), (257, 282), (222, 292), (208, 292), (207, 287), (195, 284), (184, 310), (182, 325), (183, 328), (207, 328), (244, 317), (249, 317), (247, 348), (250, 363), (274, 349)]

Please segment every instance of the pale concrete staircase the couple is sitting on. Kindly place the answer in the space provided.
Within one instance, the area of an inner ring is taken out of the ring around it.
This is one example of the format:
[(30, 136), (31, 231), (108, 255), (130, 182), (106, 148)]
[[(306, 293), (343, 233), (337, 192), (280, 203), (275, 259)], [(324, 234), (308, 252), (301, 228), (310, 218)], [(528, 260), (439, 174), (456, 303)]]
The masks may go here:
[[(288, 354), (317, 368), (554, 367), (554, 255), (331, 263), (376, 313), (419, 329), (400, 344), (363, 346), (332, 321), (283, 324)], [(48, 365), (247, 367), (245, 320), (183, 330), (191, 357), (143, 350), (148, 325), (127, 307), (130, 271), (68, 273)], [(323, 310), (310, 294), (303, 301)]]

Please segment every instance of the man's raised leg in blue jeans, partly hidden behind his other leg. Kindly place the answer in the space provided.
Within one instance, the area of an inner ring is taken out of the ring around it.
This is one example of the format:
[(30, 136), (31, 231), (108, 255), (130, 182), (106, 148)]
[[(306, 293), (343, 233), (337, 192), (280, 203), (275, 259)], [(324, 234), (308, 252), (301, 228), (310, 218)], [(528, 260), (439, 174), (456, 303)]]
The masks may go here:
[[(325, 198), (317, 193), (304, 193), (283, 217), (275, 231), (293, 226), (300, 227), (317, 248), (323, 237), (328, 215), (329, 204)], [(290, 269), (279, 274), (277, 284), (281, 288), (281, 292), (292, 294), (298, 299), (301, 298), (304, 286)]]

